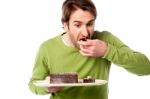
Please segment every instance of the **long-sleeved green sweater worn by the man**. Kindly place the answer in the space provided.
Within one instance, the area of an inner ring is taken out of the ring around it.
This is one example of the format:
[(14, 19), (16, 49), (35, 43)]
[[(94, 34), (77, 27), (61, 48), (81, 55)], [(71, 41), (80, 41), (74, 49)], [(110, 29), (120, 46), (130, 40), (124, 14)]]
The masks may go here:
[[(111, 63), (121, 66), (137, 75), (150, 74), (150, 61), (142, 53), (131, 50), (117, 37), (107, 31), (95, 31), (93, 39), (100, 39), (108, 44), (103, 57), (85, 57), (77, 48), (66, 46), (61, 35), (45, 41), (37, 54), (32, 78), (29, 82), (35, 94), (49, 94), (47, 88), (37, 87), (35, 80), (43, 80), (50, 73), (77, 72), (79, 78), (88, 75), (108, 81)], [(87, 87), (64, 87), (51, 94), (51, 99), (108, 99), (108, 84)]]

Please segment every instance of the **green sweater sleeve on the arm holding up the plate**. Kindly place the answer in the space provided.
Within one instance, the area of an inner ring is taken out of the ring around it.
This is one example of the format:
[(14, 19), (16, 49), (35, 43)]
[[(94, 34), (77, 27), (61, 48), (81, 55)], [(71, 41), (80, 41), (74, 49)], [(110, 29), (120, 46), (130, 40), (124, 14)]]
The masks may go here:
[(46, 59), (46, 51), (44, 46), (41, 45), (34, 64), (34, 68), (32, 71), (32, 77), (28, 83), (30, 90), (35, 94), (48, 94), (48, 90), (45, 87), (35, 86), (33, 84), (36, 80), (43, 80), (49, 74), (47, 59)]

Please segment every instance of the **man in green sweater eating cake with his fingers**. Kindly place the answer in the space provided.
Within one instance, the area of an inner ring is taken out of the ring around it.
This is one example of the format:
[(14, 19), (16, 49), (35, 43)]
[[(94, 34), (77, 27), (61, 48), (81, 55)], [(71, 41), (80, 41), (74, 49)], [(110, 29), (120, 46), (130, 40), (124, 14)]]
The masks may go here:
[(107, 31), (95, 31), (97, 12), (91, 0), (66, 0), (62, 7), (65, 32), (45, 41), (38, 52), (29, 87), (51, 99), (108, 99), (108, 84), (91, 87), (38, 87), (50, 73), (77, 72), (108, 81), (111, 63), (137, 75), (150, 74), (150, 61)]

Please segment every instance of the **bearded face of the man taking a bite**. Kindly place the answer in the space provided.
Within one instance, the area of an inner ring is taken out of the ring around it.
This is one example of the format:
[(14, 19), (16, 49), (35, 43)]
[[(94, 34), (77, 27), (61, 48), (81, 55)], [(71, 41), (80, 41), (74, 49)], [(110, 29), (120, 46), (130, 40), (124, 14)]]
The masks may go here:
[(95, 18), (90, 12), (77, 9), (71, 13), (69, 23), (66, 23), (64, 27), (73, 45), (79, 48), (77, 44), (79, 40), (91, 39), (94, 33), (94, 24)]

